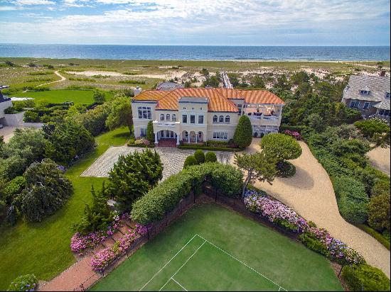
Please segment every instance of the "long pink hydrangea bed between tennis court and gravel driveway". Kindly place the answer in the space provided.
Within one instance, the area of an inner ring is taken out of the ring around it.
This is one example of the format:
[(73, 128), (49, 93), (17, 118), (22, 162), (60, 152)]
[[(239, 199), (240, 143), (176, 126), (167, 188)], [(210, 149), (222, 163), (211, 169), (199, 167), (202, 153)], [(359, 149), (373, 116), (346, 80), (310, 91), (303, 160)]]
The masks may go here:
[(308, 222), (288, 206), (264, 193), (247, 190), (244, 203), (247, 209), (262, 215), (270, 222), (299, 233), (299, 239), (306, 247), (328, 259), (343, 265), (365, 263), (358, 252), (341, 240), (333, 238), (326, 229), (317, 228), (311, 221)]

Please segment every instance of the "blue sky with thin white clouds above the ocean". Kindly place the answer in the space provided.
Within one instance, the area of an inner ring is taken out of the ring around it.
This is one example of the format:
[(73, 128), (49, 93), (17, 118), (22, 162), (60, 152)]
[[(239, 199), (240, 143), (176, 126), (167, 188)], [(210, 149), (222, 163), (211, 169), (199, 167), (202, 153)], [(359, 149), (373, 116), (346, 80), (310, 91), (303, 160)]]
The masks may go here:
[(0, 43), (390, 45), (388, 0), (0, 0)]

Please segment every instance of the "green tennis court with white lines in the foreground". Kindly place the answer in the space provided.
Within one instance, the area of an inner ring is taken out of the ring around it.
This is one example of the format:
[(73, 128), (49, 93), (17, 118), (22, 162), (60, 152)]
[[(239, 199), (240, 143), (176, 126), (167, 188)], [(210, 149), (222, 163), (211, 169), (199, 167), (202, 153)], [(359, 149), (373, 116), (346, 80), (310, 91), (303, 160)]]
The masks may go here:
[(320, 254), (205, 203), (188, 210), (91, 290), (279, 291), (280, 286), (282, 291), (343, 291)]

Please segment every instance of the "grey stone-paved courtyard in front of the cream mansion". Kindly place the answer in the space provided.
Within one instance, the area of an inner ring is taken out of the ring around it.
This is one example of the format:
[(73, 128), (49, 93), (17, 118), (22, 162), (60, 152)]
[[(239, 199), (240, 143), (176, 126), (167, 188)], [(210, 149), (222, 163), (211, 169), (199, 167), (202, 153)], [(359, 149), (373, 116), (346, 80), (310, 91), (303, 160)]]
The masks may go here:
[[(134, 151), (142, 151), (145, 148), (117, 146), (109, 149), (90, 165), (81, 176), (108, 177), (109, 171), (117, 162), (120, 155), (128, 155)], [(180, 150), (173, 147), (156, 147), (161, 162), (163, 163), (163, 180), (172, 174), (177, 174), (183, 169), (183, 163), (188, 155), (192, 155), (194, 150)], [(228, 164), (233, 157), (233, 152), (215, 152), (218, 162)]]

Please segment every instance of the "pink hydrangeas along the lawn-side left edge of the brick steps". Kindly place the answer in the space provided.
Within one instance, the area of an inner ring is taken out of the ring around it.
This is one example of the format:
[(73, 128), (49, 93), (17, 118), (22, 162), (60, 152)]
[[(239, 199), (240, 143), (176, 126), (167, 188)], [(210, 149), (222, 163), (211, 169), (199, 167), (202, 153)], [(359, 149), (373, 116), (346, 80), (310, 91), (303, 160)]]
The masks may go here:
[(81, 235), (79, 232), (76, 232), (70, 239), (70, 249), (72, 252), (82, 255), (85, 249), (96, 247), (100, 242), (105, 241), (107, 237), (114, 235), (115, 230), (122, 226), (121, 220), (127, 218), (129, 218), (127, 213), (121, 216), (114, 216), (113, 223), (107, 226), (106, 230), (91, 232), (87, 235)]

